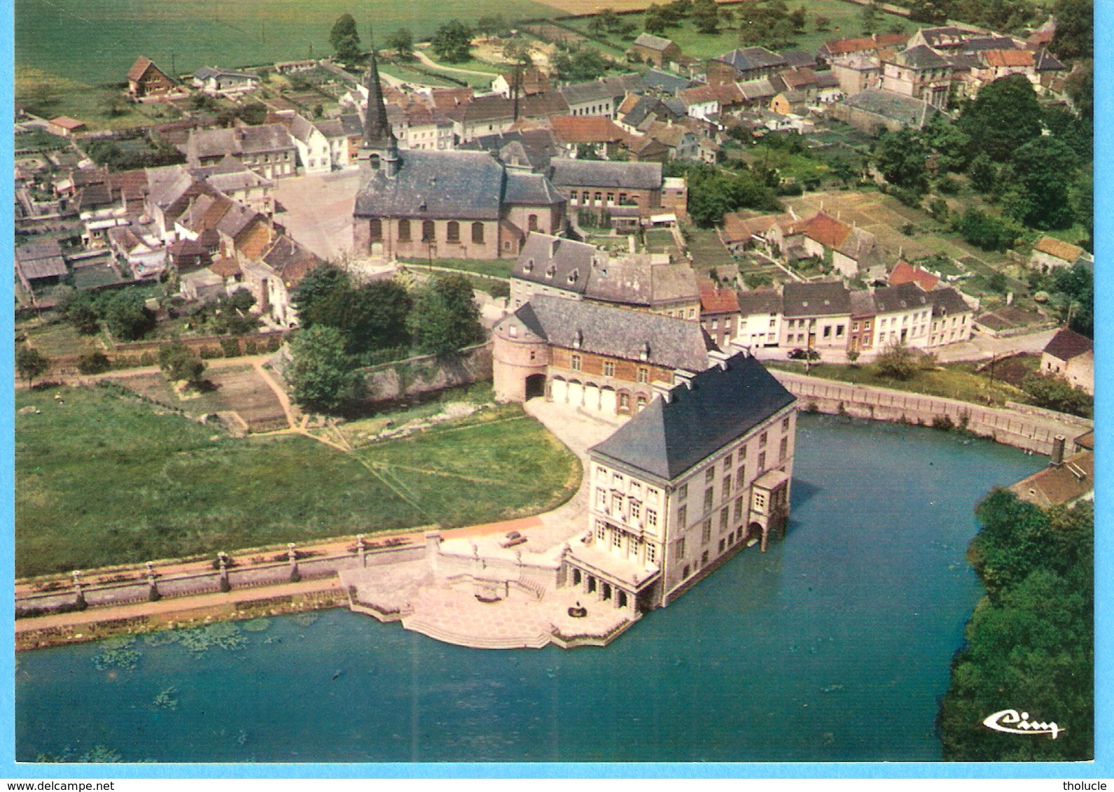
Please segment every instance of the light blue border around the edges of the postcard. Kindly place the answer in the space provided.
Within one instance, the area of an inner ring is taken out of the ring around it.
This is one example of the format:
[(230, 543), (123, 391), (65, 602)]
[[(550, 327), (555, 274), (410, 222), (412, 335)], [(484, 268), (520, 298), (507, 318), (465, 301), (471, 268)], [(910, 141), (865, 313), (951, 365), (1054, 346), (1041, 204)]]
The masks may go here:
[[(0, 23), (4, 32), (0, 43), (0, 65), (9, 79), (0, 85), (0, 106), (7, 113), (4, 125), (9, 133), (0, 139), (0, 161), (3, 177), (0, 178), (0, 206), (12, 206), (13, 199), (13, 140), (11, 119), (13, 118), (13, 2), (0, 2)], [(79, 0), (61, 0), (77, 2)], [(1114, 46), (1114, 2), (1095, 2), (1095, 85), (1104, 90), (1095, 92), (1095, 423), (1100, 443), (1096, 451), (1095, 476), (1104, 491), (1111, 481), (1111, 465), (1107, 449), (1111, 420), (1108, 390), (1114, 378), (1110, 376), (1111, 337), (1105, 335), (1107, 321), (1114, 318), (1114, 290), (1097, 288), (1108, 271), (1107, 261), (1114, 258), (1114, 239), (1111, 237), (1114, 216), (1114, 127), (1106, 122), (1114, 120), (1114, 78), (1110, 48)], [(1112, 179), (1112, 181), (1106, 181)], [(10, 211), (10, 210), (8, 210)], [(12, 261), (14, 235), (11, 215), (0, 224), (0, 251)], [(11, 280), (0, 281), (0, 304), (12, 305)], [(14, 316), (0, 311), (0, 493), (11, 493), (13, 479), (13, 435), (14, 412), (13, 355)], [(1111, 525), (1111, 507), (1106, 498), (1095, 503), (1095, 761), (1078, 763), (900, 763), (900, 762), (778, 762), (762, 764), (741, 763), (417, 763), (417, 764), (16, 764), (14, 761), (14, 615), (11, 607), (0, 607), (0, 633), (4, 652), (0, 654), (0, 776), (28, 779), (178, 779), (178, 778), (233, 778), (233, 779), (286, 779), (286, 778), (374, 778), (374, 779), (434, 779), (434, 778), (677, 778), (677, 779), (890, 779), (890, 778), (952, 778), (952, 779), (1092, 779), (1114, 775), (1114, 743), (1112, 743), (1111, 713), (1114, 689), (1108, 680), (1111, 666), (1111, 595), (1114, 592), (1114, 564), (1112, 550), (1114, 536), (1101, 529)], [(8, 541), (0, 542), (0, 567), (7, 591), (12, 591), (14, 554), (12, 498), (0, 497), (0, 521)]]

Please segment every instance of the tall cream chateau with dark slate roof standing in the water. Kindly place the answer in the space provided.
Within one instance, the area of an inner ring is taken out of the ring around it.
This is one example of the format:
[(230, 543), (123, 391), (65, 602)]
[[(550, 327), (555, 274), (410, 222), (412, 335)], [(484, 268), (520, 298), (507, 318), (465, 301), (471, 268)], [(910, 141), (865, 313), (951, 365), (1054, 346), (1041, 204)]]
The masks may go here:
[(716, 357), (588, 451), (573, 585), (664, 607), (744, 546), (784, 536), (797, 399), (746, 353)]

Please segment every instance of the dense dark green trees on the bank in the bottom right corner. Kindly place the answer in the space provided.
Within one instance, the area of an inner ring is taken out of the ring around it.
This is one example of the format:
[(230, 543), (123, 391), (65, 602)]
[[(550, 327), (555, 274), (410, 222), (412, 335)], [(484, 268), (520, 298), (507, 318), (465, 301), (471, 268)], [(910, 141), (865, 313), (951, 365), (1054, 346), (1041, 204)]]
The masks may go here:
[[(1094, 758), (1094, 508), (1042, 511), (996, 489), (978, 507), (968, 560), (986, 596), (951, 663), (940, 705), (944, 759)], [(1056, 722), (1056, 739), (984, 725), (1007, 709)]]

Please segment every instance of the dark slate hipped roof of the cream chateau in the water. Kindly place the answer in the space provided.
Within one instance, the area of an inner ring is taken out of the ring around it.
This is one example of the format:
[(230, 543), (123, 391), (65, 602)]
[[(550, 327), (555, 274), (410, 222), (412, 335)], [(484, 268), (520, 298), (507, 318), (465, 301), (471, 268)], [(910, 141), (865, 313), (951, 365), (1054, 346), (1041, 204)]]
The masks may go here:
[(593, 457), (673, 481), (794, 402), (762, 364), (742, 353), (655, 398), (603, 443)]

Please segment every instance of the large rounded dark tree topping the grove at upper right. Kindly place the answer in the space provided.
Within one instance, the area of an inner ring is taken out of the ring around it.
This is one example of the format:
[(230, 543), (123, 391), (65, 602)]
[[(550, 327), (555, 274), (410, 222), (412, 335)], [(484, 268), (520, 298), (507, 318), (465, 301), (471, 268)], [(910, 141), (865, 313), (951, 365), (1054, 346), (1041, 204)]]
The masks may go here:
[(975, 156), (985, 151), (996, 162), (1040, 136), (1040, 105), (1033, 83), (1022, 75), (1003, 77), (984, 86), (957, 121), (970, 137)]

